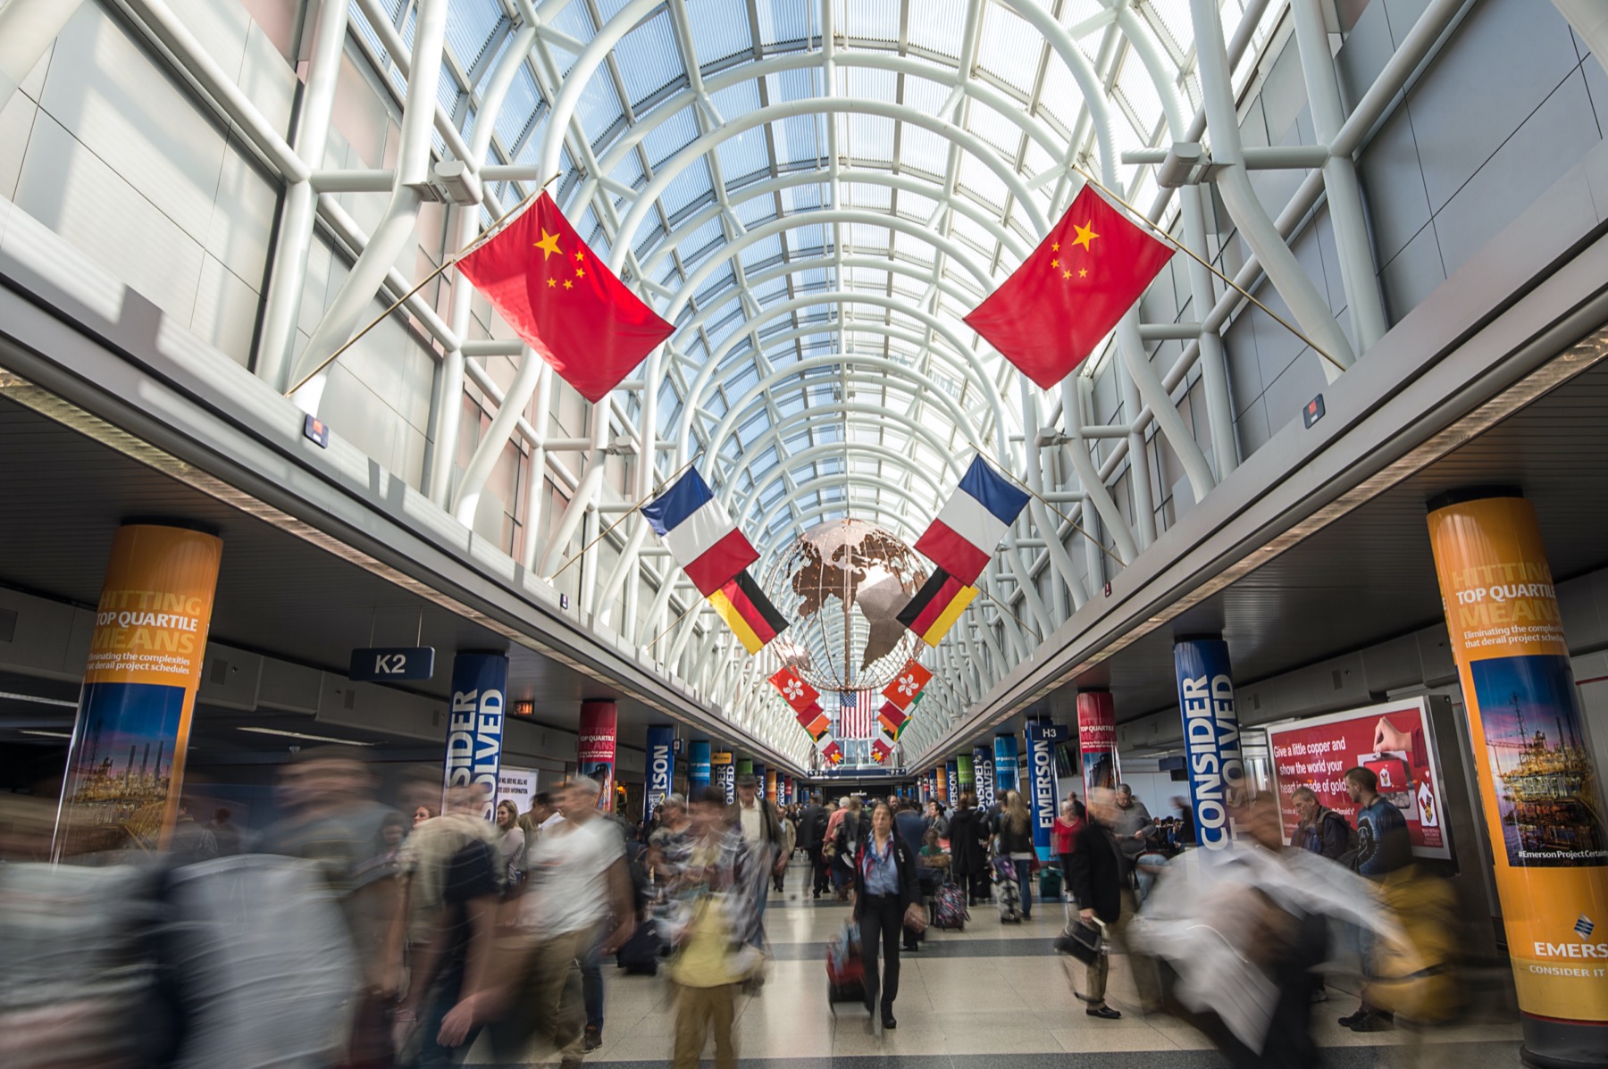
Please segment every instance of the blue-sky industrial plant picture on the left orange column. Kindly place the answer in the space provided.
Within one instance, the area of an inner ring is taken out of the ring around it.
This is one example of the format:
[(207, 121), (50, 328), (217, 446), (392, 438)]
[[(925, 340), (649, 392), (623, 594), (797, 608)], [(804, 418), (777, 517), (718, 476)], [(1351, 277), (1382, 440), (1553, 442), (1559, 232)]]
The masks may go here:
[(154, 849), (183, 706), (182, 686), (85, 685), (61, 796), (68, 854)]

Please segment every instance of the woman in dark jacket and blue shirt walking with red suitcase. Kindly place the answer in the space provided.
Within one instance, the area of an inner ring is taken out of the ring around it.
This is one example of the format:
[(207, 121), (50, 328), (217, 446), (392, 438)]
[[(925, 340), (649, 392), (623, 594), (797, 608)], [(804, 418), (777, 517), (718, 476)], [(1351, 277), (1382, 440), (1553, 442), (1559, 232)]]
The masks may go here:
[[(854, 857), (854, 920), (860, 926), (865, 960), (865, 1008), (878, 1011), (881, 993), (883, 1027), (897, 1027), (894, 998), (899, 997), (899, 944), (905, 911), (921, 900), (917, 891), (915, 857), (894, 834), (894, 817), (886, 804), (872, 810), (872, 831)], [(883, 976), (878, 990), (876, 947), (881, 944)]]

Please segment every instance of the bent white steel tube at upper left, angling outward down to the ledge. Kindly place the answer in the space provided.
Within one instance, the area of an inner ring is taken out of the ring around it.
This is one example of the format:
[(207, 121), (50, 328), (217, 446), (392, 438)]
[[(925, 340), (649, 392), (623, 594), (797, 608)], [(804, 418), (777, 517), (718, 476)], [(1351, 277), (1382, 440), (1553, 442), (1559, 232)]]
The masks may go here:
[[(421, 190), (429, 180), (429, 135), (436, 121), (436, 85), (441, 80), (447, 3), (449, 0), (420, 0), (391, 204), (325, 310), (318, 328), (307, 339), (307, 347), (291, 371), (293, 384), (352, 338), (391, 265), (415, 238)], [(326, 381), (328, 371), (320, 371), (296, 391), (294, 400), (302, 412), (318, 412)]]

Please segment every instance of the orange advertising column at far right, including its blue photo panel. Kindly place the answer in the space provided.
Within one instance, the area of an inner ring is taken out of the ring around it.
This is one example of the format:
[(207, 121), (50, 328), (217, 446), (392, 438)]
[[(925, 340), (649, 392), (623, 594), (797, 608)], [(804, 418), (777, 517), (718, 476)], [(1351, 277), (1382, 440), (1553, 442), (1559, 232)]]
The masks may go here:
[(1430, 502), (1526, 1061), (1608, 1064), (1608, 834), (1536, 510)]

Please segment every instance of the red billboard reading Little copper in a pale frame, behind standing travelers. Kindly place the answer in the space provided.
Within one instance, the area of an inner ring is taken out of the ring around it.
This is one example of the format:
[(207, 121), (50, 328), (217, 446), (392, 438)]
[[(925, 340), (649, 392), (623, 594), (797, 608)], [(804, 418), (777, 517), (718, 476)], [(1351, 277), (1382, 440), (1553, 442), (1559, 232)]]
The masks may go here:
[(1441, 820), (1441, 772), (1423, 698), (1269, 725), (1267, 744), (1274, 752), (1286, 842), (1301, 823), (1290, 801), (1296, 788), (1311, 788), (1325, 809), (1356, 828), (1357, 804), (1346, 793), (1344, 776), (1348, 768), (1362, 767), (1380, 778), (1380, 794), (1407, 818), (1412, 852), (1452, 857)]

